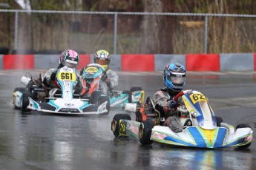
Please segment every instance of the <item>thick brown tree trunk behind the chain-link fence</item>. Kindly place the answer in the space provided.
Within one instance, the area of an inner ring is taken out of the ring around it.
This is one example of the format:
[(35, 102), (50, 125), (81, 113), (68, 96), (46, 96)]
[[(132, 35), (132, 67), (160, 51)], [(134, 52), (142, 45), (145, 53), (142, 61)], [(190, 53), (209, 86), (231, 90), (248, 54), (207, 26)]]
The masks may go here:
[[(145, 0), (145, 12), (172, 13), (174, 0)], [(144, 16), (142, 21), (141, 53), (172, 53), (172, 33), (174, 30), (172, 16)]]

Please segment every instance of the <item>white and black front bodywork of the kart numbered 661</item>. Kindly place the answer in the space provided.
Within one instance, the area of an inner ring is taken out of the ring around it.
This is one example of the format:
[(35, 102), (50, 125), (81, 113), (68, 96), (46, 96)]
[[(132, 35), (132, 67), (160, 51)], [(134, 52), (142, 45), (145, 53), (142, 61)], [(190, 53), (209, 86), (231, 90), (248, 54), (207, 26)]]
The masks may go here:
[[(95, 91), (91, 95), (91, 100), (80, 99), (79, 94), (74, 91), (76, 84), (75, 69), (62, 67), (56, 72), (56, 82), (60, 89), (53, 90), (45, 101), (35, 101), (28, 96), (29, 104), (27, 110), (38, 112), (48, 112), (55, 114), (103, 114), (108, 113), (109, 98)], [(49, 92), (50, 94), (50, 92)]]

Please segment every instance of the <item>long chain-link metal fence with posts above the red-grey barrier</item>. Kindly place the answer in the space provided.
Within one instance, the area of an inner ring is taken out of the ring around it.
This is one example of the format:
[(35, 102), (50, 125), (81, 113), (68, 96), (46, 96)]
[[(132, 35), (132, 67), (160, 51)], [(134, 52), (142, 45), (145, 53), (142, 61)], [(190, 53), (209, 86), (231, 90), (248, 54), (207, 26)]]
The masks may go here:
[(256, 51), (256, 15), (0, 10), (0, 21), (10, 53)]

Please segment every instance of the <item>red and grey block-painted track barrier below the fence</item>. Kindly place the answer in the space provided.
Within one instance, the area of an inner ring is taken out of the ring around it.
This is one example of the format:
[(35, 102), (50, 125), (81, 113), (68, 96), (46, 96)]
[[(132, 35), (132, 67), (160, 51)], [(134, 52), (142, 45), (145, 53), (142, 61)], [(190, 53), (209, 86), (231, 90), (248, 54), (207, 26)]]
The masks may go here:
[[(82, 69), (93, 62), (92, 54), (79, 55)], [(256, 54), (123, 54), (111, 55), (110, 67), (116, 71), (154, 72), (163, 71), (166, 64), (179, 62), (188, 71), (255, 71)], [(2, 65), (1, 65), (2, 64)], [(59, 64), (59, 55), (0, 55), (0, 69), (50, 69)]]

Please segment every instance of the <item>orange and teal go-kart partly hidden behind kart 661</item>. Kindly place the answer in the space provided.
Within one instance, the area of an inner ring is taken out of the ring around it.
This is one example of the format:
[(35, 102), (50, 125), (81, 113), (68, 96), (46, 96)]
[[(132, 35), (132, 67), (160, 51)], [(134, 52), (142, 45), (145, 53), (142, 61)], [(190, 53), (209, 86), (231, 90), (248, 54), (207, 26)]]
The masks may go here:
[[(82, 71), (82, 84), (84, 89), (81, 95), (83, 98), (90, 98), (91, 93), (95, 90), (102, 91), (99, 81), (103, 76), (105, 69), (99, 64), (88, 64)], [(103, 93), (102, 93), (103, 94)], [(111, 89), (108, 94), (110, 106), (125, 106), (125, 103), (142, 104), (144, 101), (144, 91), (140, 86), (132, 86), (130, 90)]]

